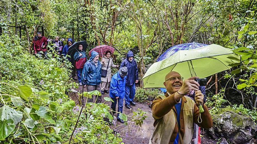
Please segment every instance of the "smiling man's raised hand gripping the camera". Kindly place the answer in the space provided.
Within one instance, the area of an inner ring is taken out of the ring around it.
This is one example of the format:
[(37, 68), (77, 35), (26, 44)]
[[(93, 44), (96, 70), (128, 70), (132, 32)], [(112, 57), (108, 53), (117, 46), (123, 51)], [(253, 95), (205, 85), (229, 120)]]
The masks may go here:
[(196, 78), (198, 77), (190, 77), (189, 79), (185, 80), (181, 88), (178, 90), (178, 93), (187, 94), (190, 93), (191, 90), (198, 91), (200, 85), (194, 80)]

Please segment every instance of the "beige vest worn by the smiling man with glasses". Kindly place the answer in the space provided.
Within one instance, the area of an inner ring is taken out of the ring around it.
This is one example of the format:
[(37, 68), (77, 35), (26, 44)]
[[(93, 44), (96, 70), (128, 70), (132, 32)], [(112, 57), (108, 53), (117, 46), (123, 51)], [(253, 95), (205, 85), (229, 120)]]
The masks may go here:
[[(165, 99), (165, 96), (158, 96), (156, 98)], [(185, 97), (185, 102), (182, 110), (185, 124), (185, 134), (183, 137), (183, 144), (189, 144), (192, 140), (194, 127), (193, 127), (193, 112), (195, 102), (190, 97)], [(149, 144), (169, 144), (171, 135), (175, 128), (176, 118), (174, 116), (174, 109), (169, 113), (158, 119), (154, 127), (152, 136), (150, 137)]]

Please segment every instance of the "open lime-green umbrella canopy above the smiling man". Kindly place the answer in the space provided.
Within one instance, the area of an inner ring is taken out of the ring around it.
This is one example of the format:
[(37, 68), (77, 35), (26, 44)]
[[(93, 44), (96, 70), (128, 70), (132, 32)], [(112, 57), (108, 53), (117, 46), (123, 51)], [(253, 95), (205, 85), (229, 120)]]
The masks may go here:
[(230, 64), (239, 62), (239, 55), (220, 45), (180, 50), (150, 66), (143, 77), (143, 88), (164, 88), (165, 76), (171, 71), (178, 72), (184, 79), (193, 76), (205, 78), (229, 70)]

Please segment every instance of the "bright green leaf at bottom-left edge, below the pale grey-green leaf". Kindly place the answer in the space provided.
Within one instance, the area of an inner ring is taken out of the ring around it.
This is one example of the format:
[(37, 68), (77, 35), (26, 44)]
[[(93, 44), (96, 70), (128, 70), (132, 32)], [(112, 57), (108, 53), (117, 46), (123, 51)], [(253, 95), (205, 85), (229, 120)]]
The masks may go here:
[(3, 141), (7, 136), (9, 136), (15, 128), (13, 120), (0, 120), (0, 141)]

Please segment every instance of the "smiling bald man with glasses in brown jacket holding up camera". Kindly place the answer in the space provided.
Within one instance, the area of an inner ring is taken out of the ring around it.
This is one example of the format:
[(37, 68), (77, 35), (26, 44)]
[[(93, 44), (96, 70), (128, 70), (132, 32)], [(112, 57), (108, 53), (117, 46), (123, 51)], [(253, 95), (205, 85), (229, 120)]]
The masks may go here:
[[(189, 144), (192, 140), (196, 123), (202, 128), (211, 128), (212, 119), (204, 95), (199, 91), (199, 83), (191, 77), (183, 82), (178, 72), (169, 72), (165, 77), (165, 96), (158, 96), (152, 102), (154, 117), (154, 132), (149, 144)], [(195, 101), (185, 97), (195, 91)], [(198, 106), (202, 105), (204, 112), (199, 113)], [(202, 122), (201, 120), (202, 119)], [(199, 121), (200, 120), (200, 121)]]

